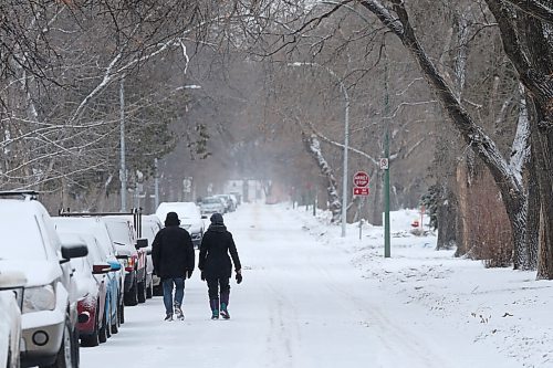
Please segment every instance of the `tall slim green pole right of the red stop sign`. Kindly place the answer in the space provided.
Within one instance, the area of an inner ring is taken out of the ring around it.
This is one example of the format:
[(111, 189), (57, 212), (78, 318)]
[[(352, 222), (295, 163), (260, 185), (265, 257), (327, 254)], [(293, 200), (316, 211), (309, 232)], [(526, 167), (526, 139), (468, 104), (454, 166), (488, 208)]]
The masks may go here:
[(388, 95), (388, 54), (384, 49), (384, 157), (387, 166), (384, 168), (384, 257), (390, 256), (389, 244), (389, 95)]

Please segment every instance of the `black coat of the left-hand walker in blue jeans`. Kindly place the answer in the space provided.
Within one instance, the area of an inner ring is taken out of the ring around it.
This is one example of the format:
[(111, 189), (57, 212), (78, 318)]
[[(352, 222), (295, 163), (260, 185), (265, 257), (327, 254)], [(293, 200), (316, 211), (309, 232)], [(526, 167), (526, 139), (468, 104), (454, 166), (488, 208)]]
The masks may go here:
[(178, 225), (159, 230), (152, 244), (154, 272), (161, 280), (184, 277), (194, 271), (194, 244), (190, 234)]

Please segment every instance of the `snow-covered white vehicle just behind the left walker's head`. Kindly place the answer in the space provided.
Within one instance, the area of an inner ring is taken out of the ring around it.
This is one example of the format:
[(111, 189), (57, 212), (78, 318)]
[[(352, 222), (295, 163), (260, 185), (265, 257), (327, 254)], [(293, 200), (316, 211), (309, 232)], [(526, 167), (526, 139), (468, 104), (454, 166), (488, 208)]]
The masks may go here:
[(164, 222), (168, 212), (177, 212), (180, 227), (190, 233), (194, 245), (199, 248), (205, 231), (204, 219), (207, 218), (201, 214), (200, 208), (195, 202), (163, 202), (159, 203), (156, 215)]

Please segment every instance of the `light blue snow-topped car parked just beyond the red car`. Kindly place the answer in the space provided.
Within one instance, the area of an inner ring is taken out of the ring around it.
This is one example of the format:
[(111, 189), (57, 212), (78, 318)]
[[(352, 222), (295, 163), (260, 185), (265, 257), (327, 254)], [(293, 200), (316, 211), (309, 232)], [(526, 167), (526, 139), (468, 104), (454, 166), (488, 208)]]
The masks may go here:
[[(71, 215), (70, 215), (71, 214)], [(107, 273), (109, 278), (108, 293), (111, 295), (111, 333), (116, 334), (121, 324), (125, 322), (125, 305), (123, 303), (123, 285), (125, 283), (125, 270), (128, 255), (121, 254), (115, 249), (115, 244), (107, 232), (105, 221), (101, 217), (85, 215), (79, 213), (64, 213), (63, 217), (52, 218), (58, 231), (79, 232), (91, 234), (97, 242), (103, 255), (103, 262), (112, 265), (112, 271)], [(119, 264), (119, 267), (117, 267)], [(109, 330), (107, 332), (109, 333)]]

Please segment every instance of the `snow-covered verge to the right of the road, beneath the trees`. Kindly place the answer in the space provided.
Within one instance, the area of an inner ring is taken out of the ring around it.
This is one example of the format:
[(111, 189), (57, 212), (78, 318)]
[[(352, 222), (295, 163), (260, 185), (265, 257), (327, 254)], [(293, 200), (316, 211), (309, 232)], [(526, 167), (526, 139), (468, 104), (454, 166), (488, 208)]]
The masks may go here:
[(411, 323), (421, 333), (449, 330), (451, 340), (444, 341), (449, 349), (456, 341), (471, 344), (465, 354), (478, 357), (472, 367), (553, 367), (553, 283), (535, 281), (535, 272), (486, 269), (480, 261), (453, 257), (455, 251), (436, 251), (434, 235), (410, 234), (418, 218), (414, 210), (392, 213), (389, 259), (383, 256), (380, 227), (365, 225), (359, 240), (358, 225), (348, 225), (344, 239), (326, 213), (294, 213), (321, 243), (349, 253), (387, 304), (413, 309), (411, 318), (419, 320)]

